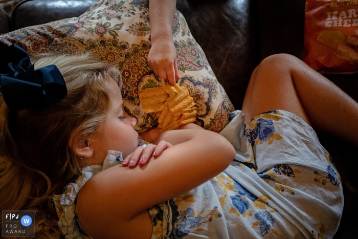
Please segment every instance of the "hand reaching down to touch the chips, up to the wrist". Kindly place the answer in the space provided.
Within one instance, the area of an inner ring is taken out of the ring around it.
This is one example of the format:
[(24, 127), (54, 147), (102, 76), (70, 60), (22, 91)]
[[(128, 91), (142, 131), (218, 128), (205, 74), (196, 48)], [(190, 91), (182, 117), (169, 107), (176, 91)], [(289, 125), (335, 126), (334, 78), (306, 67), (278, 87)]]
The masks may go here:
[(172, 36), (160, 36), (152, 39), (152, 47), (148, 54), (149, 66), (160, 78), (168, 78), (170, 84), (179, 79), (176, 66), (176, 50)]

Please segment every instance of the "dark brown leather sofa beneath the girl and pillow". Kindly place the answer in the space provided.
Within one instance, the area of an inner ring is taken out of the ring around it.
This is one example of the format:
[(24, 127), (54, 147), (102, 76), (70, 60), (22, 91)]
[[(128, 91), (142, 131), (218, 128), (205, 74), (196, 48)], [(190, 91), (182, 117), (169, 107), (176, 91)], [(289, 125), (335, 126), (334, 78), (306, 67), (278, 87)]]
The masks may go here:
[[(24, 0), (14, 8), (11, 18), (0, 9), (0, 34), (78, 16), (95, 3), (97, 0)], [(288, 53), (302, 59), (305, 0), (177, 0), (177, 9), (186, 17), (236, 109), (241, 108), (251, 72), (263, 58)], [(358, 101), (356, 75), (327, 77)], [(343, 181), (345, 206), (334, 238), (358, 238), (354, 229), (358, 223), (358, 182), (354, 177), (358, 148), (317, 133)]]

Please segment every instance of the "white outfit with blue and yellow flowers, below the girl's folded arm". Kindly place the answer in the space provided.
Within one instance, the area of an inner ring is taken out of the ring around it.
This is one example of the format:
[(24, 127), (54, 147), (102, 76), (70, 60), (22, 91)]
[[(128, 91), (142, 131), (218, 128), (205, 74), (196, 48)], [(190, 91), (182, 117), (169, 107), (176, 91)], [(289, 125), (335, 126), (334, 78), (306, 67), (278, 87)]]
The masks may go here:
[(332, 238), (343, 211), (340, 176), (314, 130), (285, 111), (220, 133), (236, 149), (222, 173), (149, 209), (152, 239)]

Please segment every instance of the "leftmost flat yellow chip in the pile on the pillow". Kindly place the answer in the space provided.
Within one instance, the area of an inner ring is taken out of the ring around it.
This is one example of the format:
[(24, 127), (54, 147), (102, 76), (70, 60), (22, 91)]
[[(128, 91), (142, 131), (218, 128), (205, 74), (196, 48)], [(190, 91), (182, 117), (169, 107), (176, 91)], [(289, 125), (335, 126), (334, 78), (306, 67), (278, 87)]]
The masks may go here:
[(158, 112), (163, 110), (163, 106), (168, 99), (168, 94), (162, 87), (148, 88), (138, 91), (139, 101), (146, 113)]

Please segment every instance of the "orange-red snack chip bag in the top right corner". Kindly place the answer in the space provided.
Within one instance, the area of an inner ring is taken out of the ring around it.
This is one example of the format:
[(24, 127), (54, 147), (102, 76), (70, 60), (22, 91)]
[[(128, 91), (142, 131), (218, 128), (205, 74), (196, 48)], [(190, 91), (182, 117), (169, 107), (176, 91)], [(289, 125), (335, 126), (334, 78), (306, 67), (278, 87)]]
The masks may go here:
[(358, 0), (306, 0), (303, 61), (322, 74), (358, 72)]

